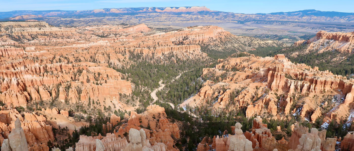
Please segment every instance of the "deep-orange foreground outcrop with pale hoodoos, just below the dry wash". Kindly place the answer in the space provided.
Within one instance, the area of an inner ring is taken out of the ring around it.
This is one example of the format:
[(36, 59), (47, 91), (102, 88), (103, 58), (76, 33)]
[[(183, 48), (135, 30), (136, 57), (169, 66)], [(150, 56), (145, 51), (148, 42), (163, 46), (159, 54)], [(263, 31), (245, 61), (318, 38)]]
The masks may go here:
[[(104, 127), (112, 127), (117, 122), (115, 115), (111, 116), (111, 122)], [(151, 105), (141, 114), (131, 112), (121, 121), (124, 124), (116, 126), (114, 133), (88, 137), (80, 136), (76, 143), (77, 151), (97, 151), (96, 140), (101, 140), (106, 150), (154, 150), (154, 151), (177, 151), (175, 140), (180, 138), (180, 131), (176, 123), (166, 119), (165, 109), (159, 105)], [(145, 127), (145, 128), (141, 128)], [(137, 129), (140, 129), (139, 131)], [(128, 138), (127, 135), (128, 134)]]

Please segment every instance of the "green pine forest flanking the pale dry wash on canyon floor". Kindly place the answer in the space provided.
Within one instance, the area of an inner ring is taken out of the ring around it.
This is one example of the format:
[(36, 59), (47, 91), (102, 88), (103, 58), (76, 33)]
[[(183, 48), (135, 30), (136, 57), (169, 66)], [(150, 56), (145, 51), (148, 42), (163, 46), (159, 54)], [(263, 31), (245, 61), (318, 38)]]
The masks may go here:
[[(212, 62), (210, 58), (184, 60), (172, 54), (167, 54), (166, 59), (156, 59), (153, 56), (143, 56), (142, 53), (133, 52), (130, 52), (129, 60), (133, 61), (129, 67), (116, 68), (112, 66), (112, 68), (127, 75), (127, 80), (129, 79), (135, 84), (131, 99), (139, 101), (139, 108), (136, 110), (139, 113), (143, 112), (153, 101), (150, 93), (153, 89), (159, 87), (160, 80), (164, 81), (167, 89), (176, 89), (175, 94), (169, 94), (176, 96), (175, 99), (171, 100), (174, 103), (178, 103), (178, 101), (180, 102), (185, 97), (195, 93), (201, 85), (201, 82), (197, 79), (200, 77), (202, 69), (209, 67), (209, 63)], [(181, 74), (181, 77), (178, 80), (169, 82), (179, 74)], [(190, 89), (187, 90), (187, 87)], [(127, 103), (129, 102), (130, 99), (127, 100)]]

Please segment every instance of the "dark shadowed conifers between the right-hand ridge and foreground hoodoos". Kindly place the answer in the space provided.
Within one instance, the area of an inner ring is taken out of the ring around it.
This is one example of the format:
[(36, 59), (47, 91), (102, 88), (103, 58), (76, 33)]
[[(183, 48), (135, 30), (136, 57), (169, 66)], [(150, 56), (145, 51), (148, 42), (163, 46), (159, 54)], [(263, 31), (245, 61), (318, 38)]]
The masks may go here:
[[(205, 136), (213, 137), (214, 135), (223, 135), (224, 131), (227, 131), (227, 134), (231, 134), (231, 126), (234, 126), (236, 122), (240, 122), (242, 125), (242, 131), (251, 131), (252, 123), (254, 117), (247, 118), (246, 109), (241, 108), (239, 110), (229, 111), (227, 108), (223, 110), (214, 110), (207, 107), (196, 107), (196, 108), (187, 108), (187, 111), (198, 116), (194, 118), (189, 115), (186, 111), (177, 111), (172, 109), (171, 106), (167, 103), (156, 102), (156, 104), (165, 108), (167, 117), (175, 121), (183, 122), (183, 131), (181, 131), (181, 138), (177, 141), (176, 146), (182, 150), (182, 146), (185, 147), (187, 151), (193, 151), (196, 148), (196, 145), (201, 142), (201, 139)], [(292, 134), (291, 125), (294, 123), (300, 123), (302, 126), (306, 126), (309, 129), (315, 127), (321, 130), (321, 125), (323, 119), (319, 118), (315, 123), (310, 123), (308, 121), (301, 121), (301, 118), (289, 116), (290, 120), (267, 120), (263, 118), (263, 123), (267, 124), (270, 131), (274, 134), (276, 140), (289, 138)], [(285, 133), (278, 133), (277, 127), (281, 126), (282, 131)], [(343, 126), (343, 124), (336, 125), (334, 122), (330, 123), (327, 136), (326, 137), (342, 137), (348, 132), (353, 130), (352, 127)], [(189, 140), (189, 141), (187, 141)]]

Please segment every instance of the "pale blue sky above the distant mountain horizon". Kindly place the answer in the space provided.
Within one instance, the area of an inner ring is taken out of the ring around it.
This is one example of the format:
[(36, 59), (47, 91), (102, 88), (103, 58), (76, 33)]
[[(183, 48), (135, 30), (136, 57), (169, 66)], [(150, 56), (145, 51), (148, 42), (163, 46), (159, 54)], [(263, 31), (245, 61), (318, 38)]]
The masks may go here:
[(271, 13), (308, 9), (354, 12), (354, 0), (0, 0), (0, 12), (181, 6), (206, 6), (211, 10), (235, 13)]

